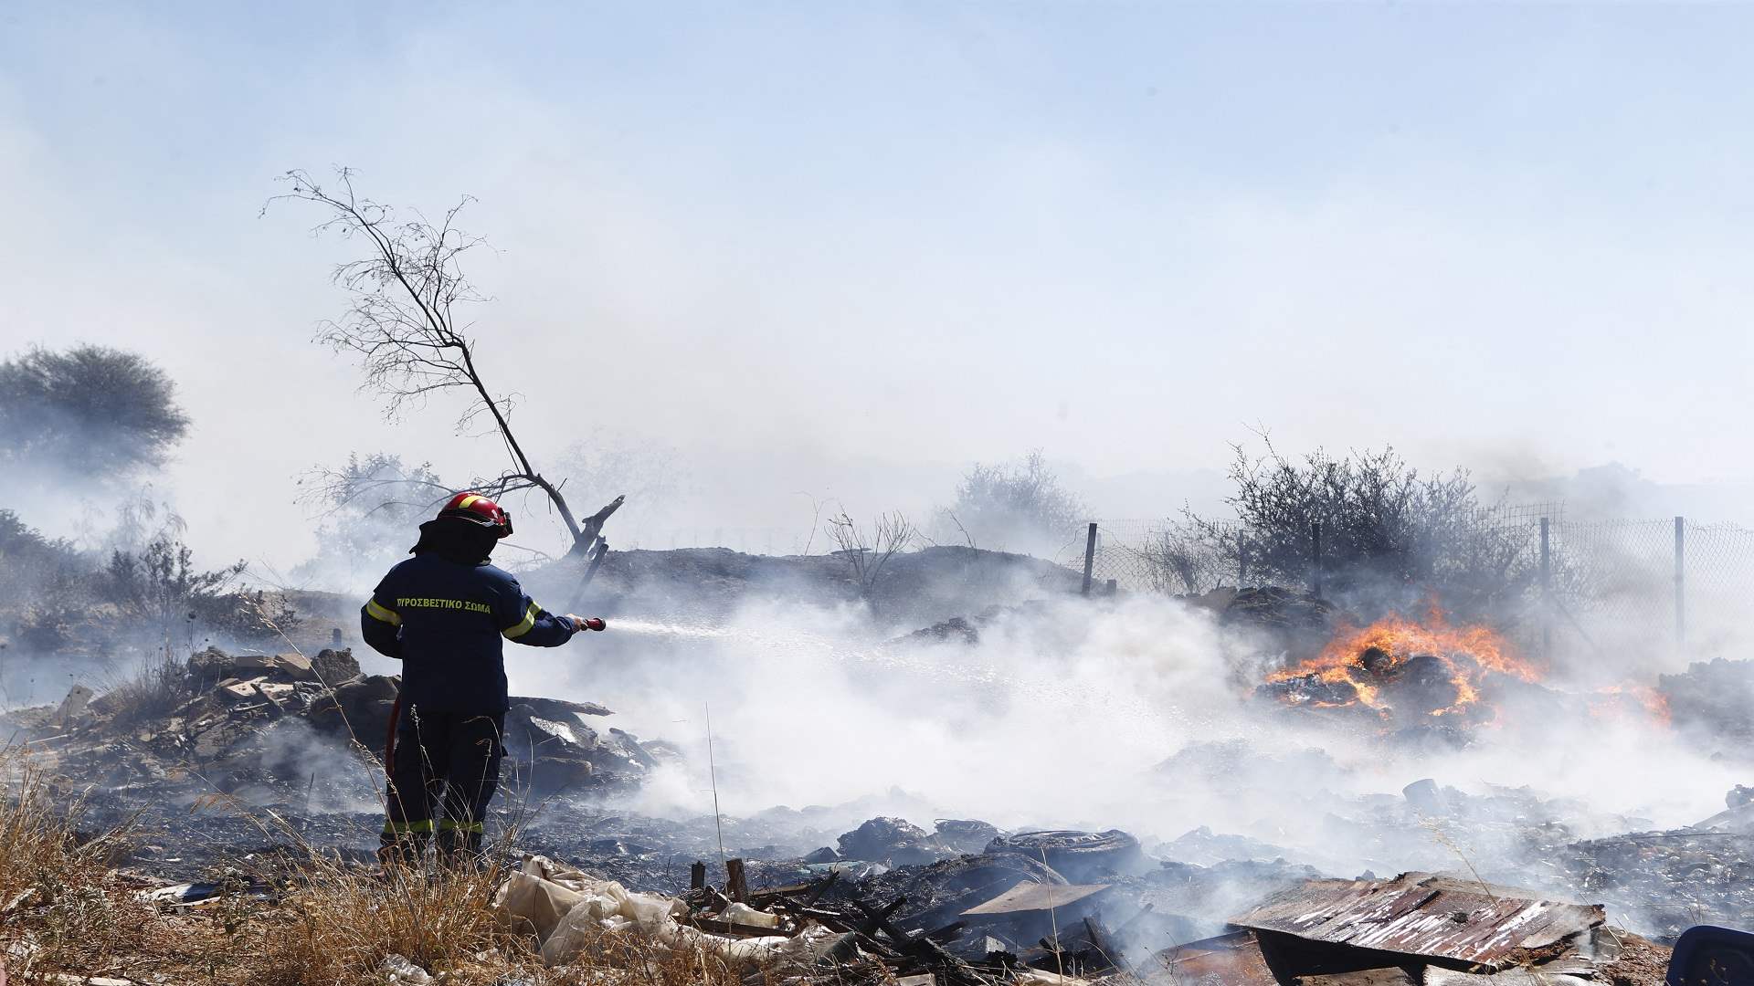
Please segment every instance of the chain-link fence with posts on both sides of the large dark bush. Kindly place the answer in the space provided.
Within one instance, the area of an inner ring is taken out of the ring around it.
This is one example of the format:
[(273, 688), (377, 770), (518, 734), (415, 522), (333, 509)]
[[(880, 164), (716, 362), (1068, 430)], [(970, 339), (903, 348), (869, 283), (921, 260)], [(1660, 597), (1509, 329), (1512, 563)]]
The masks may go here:
[[(1201, 595), (1300, 584), (1321, 591), (1321, 525), (1308, 525), (1307, 570), (1263, 570), (1258, 539), (1238, 521), (1112, 519), (1080, 526), (1056, 561), (1089, 572), (1091, 593)], [(1482, 509), (1452, 551), (1498, 553), (1514, 586), (1517, 642), (1535, 651), (1615, 654), (1724, 653), (1747, 639), (1754, 528), (1668, 519), (1565, 518), (1563, 504)], [(1463, 547), (1475, 546), (1475, 547)], [(1442, 565), (1451, 560), (1438, 560)], [(1465, 563), (1470, 560), (1454, 560)]]

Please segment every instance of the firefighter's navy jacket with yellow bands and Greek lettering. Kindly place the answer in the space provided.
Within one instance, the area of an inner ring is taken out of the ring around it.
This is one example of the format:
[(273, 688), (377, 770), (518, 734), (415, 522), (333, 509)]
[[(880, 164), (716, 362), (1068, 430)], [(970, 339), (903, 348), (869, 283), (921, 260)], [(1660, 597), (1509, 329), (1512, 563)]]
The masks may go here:
[(402, 702), (435, 712), (505, 712), (502, 637), (572, 640), (572, 621), (538, 607), (510, 572), (424, 551), (384, 575), (360, 609), (365, 642), (402, 661)]

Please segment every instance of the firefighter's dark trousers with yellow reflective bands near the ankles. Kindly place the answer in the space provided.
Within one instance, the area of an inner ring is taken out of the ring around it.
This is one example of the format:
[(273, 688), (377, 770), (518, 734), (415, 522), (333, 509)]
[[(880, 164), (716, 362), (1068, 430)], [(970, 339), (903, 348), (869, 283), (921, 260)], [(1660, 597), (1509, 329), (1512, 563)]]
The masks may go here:
[(419, 860), (433, 833), (438, 853), (456, 860), (481, 853), (481, 821), (500, 784), (503, 714), (402, 709), (389, 758), (384, 861)]

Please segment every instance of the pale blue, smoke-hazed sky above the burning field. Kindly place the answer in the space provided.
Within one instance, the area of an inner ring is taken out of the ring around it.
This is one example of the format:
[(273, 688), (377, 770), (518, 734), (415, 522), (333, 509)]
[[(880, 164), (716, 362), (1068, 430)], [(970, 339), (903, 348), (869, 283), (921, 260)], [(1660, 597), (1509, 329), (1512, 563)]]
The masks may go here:
[(695, 523), (924, 509), (1031, 447), (1100, 512), (1170, 512), (1249, 423), (1749, 482), (1750, 32), (1666, 4), (0, 4), (0, 353), (165, 365), (195, 419), (167, 482), (219, 556), (296, 560), (291, 477), (349, 451), (495, 468), (310, 342), (346, 244), (258, 211), (346, 163), (479, 198), (475, 332), (526, 442), (674, 446), (721, 507)]

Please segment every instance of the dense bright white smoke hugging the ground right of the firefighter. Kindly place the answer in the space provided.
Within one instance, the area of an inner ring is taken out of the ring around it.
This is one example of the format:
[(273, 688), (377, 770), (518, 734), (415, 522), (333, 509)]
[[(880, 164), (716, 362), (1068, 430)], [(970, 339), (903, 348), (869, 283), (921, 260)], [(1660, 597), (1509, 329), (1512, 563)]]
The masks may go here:
[(728, 814), (905, 791), (898, 812), (928, 828), (984, 818), (1173, 842), (1205, 826), (1344, 875), (1519, 861), (1505, 826), (1408, 811), (1401, 790), (1426, 777), (1515, 793), (1573, 837), (1698, 821), (1742, 777), (1642, 709), (1584, 698), (1565, 714), (1507, 700), (1461, 747), (1289, 716), (1252, 697), (1277, 654), (1166, 598), (1040, 600), (993, 614), (973, 644), (896, 640), (858, 605), (609, 618), (610, 633), (510, 661), (514, 691), (603, 702), (623, 728), (684, 746), (688, 767), (631, 802), (654, 814), (712, 811), (709, 711)]

